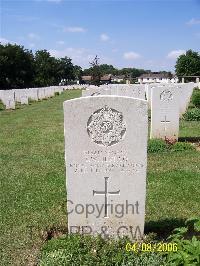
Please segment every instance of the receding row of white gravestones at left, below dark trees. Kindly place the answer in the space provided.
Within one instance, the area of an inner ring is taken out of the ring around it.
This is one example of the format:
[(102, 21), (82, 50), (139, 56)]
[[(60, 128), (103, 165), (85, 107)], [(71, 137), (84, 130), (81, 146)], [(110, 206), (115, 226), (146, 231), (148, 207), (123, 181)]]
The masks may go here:
[(55, 96), (55, 93), (61, 93), (63, 90), (82, 89), (85, 86), (51, 86), (41, 88), (0, 90), (0, 100), (6, 109), (15, 109), (15, 104), (28, 104), (29, 101), (38, 101)]

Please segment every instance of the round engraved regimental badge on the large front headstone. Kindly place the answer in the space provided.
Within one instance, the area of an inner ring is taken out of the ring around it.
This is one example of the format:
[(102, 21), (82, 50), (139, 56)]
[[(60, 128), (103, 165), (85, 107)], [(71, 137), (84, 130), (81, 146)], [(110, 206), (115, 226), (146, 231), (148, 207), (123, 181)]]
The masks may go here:
[(108, 106), (98, 109), (88, 119), (87, 132), (99, 145), (107, 147), (118, 143), (126, 132), (122, 113)]

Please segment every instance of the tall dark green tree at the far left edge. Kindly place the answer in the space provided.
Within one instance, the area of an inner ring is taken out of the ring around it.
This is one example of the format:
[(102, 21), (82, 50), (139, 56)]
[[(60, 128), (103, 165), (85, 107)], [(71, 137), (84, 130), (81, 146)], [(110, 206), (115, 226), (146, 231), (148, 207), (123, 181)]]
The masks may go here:
[(34, 57), (31, 51), (16, 44), (0, 44), (0, 87), (31, 87), (34, 81)]

